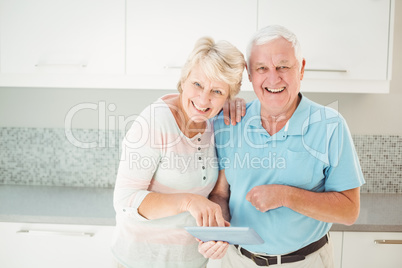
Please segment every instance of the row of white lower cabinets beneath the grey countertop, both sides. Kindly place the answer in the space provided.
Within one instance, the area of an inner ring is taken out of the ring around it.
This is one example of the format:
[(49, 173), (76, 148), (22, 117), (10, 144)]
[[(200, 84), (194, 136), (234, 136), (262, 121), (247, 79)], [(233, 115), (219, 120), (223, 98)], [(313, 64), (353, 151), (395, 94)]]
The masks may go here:
[[(2, 268), (112, 268), (113, 226), (0, 222)], [(402, 267), (402, 233), (330, 232), (335, 268)], [(208, 268), (220, 267), (210, 260)]]

